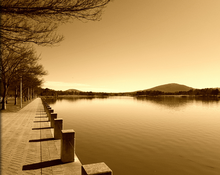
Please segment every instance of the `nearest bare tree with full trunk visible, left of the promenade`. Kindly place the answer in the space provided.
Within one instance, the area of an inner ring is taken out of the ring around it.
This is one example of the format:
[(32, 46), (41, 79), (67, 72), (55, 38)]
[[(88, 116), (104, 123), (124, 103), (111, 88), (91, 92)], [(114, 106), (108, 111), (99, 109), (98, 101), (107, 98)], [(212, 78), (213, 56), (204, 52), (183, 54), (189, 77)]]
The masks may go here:
[(16, 81), (19, 81), (20, 76), (42, 76), (45, 75), (46, 72), (43, 70), (43, 66), (37, 63), (39, 57), (35, 56), (36, 54), (33, 48), (19, 48), (16, 52), (1, 48), (1, 51), (2, 64), (0, 66), (0, 73), (3, 84), (2, 109), (6, 109), (8, 90), (12, 83), (16, 84)]

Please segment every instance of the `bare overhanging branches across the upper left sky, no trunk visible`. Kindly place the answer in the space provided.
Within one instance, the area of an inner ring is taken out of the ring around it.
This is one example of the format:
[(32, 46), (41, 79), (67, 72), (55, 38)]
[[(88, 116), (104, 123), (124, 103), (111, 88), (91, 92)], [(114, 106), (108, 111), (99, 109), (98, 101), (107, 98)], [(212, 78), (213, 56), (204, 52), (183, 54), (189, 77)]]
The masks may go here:
[(62, 23), (100, 20), (110, 0), (4, 0), (1, 2), (1, 43), (14, 50), (24, 43), (53, 45), (63, 37), (56, 34)]

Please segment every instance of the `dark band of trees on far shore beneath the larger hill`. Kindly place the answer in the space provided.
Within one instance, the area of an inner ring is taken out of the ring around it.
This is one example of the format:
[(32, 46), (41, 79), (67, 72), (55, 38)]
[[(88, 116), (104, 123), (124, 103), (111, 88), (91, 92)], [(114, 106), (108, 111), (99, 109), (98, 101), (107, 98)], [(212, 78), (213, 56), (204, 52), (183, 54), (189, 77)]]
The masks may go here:
[(191, 89), (189, 91), (179, 92), (162, 92), (162, 91), (138, 91), (135, 95), (147, 95), (147, 96), (158, 96), (158, 95), (199, 95), (199, 96), (217, 96), (220, 93), (219, 89), (205, 88), (205, 89)]

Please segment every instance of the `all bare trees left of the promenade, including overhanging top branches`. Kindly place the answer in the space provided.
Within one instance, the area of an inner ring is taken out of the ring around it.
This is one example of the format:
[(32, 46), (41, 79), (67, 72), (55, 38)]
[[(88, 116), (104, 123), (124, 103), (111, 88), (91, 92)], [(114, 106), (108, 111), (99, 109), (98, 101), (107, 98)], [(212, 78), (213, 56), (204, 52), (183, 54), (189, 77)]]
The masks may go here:
[(6, 109), (9, 89), (16, 92), (20, 78), (27, 90), (42, 84), (41, 76), (46, 72), (37, 63), (39, 56), (33, 44), (53, 46), (59, 43), (63, 40), (63, 36), (56, 33), (59, 25), (73, 19), (100, 20), (108, 2), (110, 0), (1, 1), (2, 109)]

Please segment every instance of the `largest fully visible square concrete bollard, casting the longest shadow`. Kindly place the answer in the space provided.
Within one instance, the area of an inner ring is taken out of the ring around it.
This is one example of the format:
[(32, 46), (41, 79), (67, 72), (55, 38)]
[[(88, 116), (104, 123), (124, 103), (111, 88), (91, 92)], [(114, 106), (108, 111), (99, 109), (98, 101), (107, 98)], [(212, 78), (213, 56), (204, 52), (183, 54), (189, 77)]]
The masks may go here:
[(61, 161), (74, 162), (75, 131), (73, 129), (61, 130)]

